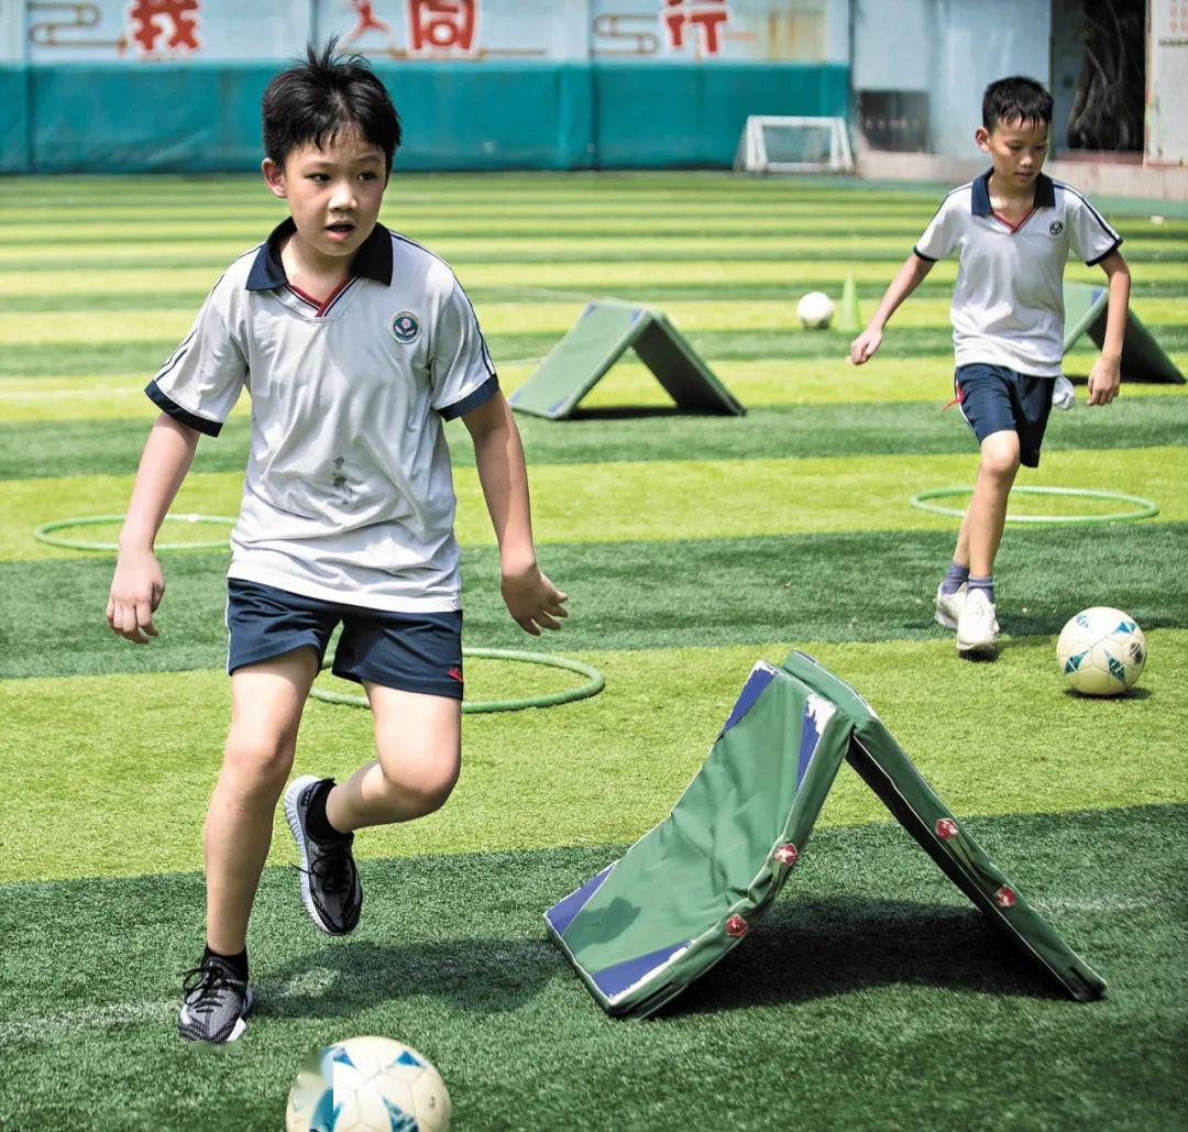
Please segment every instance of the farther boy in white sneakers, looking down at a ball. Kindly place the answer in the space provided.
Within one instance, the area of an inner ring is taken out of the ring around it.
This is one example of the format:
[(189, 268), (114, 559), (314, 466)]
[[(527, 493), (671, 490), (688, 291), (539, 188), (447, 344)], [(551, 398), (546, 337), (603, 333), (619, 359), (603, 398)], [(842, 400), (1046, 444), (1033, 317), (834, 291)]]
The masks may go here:
[[(939, 259), (960, 257), (953, 292), (954, 388), (981, 445), (981, 463), (961, 520), (949, 571), (936, 592), (936, 620), (956, 630), (958, 652), (993, 658), (994, 556), (1006, 500), (1023, 463), (1040, 464), (1054, 392), (1072, 404), (1061, 377), (1063, 274), (1072, 249), (1100, 264), (1110, 280), (1101, 356), (1089, 373), (1091, 405), (1118, 396), (1130, 271), (1121, 236), (1070, 185), (1045, 177), (1051, 95), (1032, 78), (1000, 78), (986, 88), (974, 134), (991, 169), (954, 189), (891, 282), (878, 312), (854, 339), (849, 358), (868, 361), (899, 304)], [(1054, 391), (1054, 386), (1060, 388)]]

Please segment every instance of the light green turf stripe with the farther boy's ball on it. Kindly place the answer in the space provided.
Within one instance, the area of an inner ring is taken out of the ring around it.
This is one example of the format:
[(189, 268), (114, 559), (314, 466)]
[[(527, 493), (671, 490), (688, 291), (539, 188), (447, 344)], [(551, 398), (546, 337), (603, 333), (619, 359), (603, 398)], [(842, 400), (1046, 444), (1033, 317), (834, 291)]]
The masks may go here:
[[(1144, 691), (1120, 700), (1067, 693), (1054, 644), (1019, 640), (993, 666), (959, 662), (942, 640), (814, 643), (809, 651), (870, 700), (958, 814), (1184, 801), (1188, 717), (1178, 690), (1188, 631), (1151, 632)], [(606, 691), (564, 708), (466, 716), (450, 804), (369, 830), (359, 852), (465, 853), (476, 839), (488, 850), (633, 841), (701, 766), (752, 664), (786, 651), (750, 644), (584, 653), (606, 673)], [(939, 688), (968, 709), (939, 712)], [(1031, 706), (1025, 720), (1020, 703)], [(222, 672), (4, 681), (0, 706), (21, 798), (7, 818), (0, 883), (177, 872), (201, 860), (197, 814), (229, 717)], [(350, 773), (372, 758), (371, 722), (365, 710), (310, 702), (295, 772)], [(134, 804), (113, 793), (113, 782), (137, 784)], [(845, 774), (824, 820), (884, 816), (865, 784)], [(279, 864), (290, 852), (277, 822)]]

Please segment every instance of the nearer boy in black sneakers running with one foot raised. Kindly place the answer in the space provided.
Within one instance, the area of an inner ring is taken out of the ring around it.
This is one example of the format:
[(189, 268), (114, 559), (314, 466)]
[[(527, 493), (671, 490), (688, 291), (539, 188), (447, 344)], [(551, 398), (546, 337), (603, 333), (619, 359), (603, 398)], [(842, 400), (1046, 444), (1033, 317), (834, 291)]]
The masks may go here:
[(315, 924), (346, 935), (362, 892), (354, 831), (436, 810), (459, 774), (462, 613), (442, 420), (461, 417), (499, 542), (503, 595), (525, 632), (558, 628), (565, 595), (536, 563), (519, 434), (466, 292), (437, 257), (377, 223), (400, 141), (359, 57), (318, 56), (264, 94), (263, 163), (290, 217), (236, 259), (146, 390), (162, 413), (137, 473), (107, 618), (157, 635), (157, 530), (201, 435), (252, 398), (232, 533), (232, 722), (207, 811), (207, 947), (178, 1032), (233, 1042), (252, 1006), (247, 921), (310, 685), (334, 628), (361, 683), (375, 758), (347, 782), (285, 791)]

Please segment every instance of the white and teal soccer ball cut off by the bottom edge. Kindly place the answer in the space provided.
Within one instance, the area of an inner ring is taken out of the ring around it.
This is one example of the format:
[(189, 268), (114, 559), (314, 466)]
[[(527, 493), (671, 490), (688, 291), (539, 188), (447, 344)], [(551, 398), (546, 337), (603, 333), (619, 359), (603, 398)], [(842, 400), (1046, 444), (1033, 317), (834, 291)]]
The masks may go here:
[(286, 1132), (449, 1132), (446, 1082), (428, 1058), (391, 1038), (347, 1038), (302, 1065)]

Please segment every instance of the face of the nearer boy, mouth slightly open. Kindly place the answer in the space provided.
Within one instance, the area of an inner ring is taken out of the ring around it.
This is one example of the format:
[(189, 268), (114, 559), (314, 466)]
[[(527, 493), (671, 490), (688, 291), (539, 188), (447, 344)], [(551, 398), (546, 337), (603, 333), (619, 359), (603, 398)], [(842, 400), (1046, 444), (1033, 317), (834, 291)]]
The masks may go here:
[(371, 235), (387, 188), (384, 153), (355, 132), (342, 132), (324, 150), (307, 143), (284, 166), (265, 158), (264, 179), (286, 201), (297, 235), (315, 252), (349, 259)]

